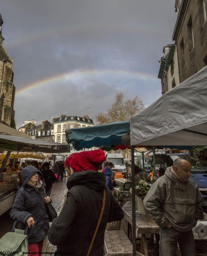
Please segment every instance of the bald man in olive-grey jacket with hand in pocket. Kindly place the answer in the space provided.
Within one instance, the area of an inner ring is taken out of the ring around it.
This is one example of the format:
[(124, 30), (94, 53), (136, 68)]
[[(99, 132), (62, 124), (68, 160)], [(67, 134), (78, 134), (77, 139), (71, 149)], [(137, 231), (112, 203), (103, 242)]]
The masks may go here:
[(203, 196), (189, 179), (190, 170), (187, 160), (175, 159), (144, 199), (147, 213), (160, 227), (160, 256), (174, 256), (178, 244), (182, 256), (195, 256), (192, 228), (203, 219)]

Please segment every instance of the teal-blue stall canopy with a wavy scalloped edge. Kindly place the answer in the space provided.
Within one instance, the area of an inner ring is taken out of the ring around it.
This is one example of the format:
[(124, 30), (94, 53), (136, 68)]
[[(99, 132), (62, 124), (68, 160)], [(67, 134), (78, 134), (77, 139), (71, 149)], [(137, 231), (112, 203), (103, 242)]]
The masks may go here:
[(129, 132), (129, 121), (117, 122), (85, 128), (67, 129), (66, 139), (68, 144), (72, 143), (76, 150), (92, 147), (99, 148), (101, 146), (114, 147), (120, 144), (127, 146), (130, 145)]

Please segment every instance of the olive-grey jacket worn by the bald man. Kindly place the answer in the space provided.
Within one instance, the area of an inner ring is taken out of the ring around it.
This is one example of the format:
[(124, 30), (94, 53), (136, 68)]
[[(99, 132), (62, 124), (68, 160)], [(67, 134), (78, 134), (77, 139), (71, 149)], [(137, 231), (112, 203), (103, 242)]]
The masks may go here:
[(203, 215), (203, 196), (193, 180), (178, 180), (168, 167), (152, 184), (143, 203), (160, 228), (169, 222), (180, 232), (190, 231)]

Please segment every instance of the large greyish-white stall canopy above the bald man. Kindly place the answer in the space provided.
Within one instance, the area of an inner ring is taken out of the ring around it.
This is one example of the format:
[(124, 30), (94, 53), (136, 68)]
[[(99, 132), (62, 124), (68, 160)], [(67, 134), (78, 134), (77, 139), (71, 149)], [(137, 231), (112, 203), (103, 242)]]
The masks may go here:
[(207, 66), (130, 118), (131, 145), (207, 145)]

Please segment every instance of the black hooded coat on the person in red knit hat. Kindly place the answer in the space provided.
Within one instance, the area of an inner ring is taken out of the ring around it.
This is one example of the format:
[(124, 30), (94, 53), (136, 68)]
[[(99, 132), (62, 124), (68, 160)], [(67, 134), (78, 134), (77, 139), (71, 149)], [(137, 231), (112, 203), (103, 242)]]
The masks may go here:
[(106, 186), (104, 173), (75, 172), (68, 178), (67, 187), (67, 200), (48, 232), (50, 243), (57, 245), (56, 252), (61, 255), (87, 255), (99, 221), (105, 189), (105, 208), (90, 253), (90, 256), (103, 256), (107, 222), (123, 218), (122, 208)]

